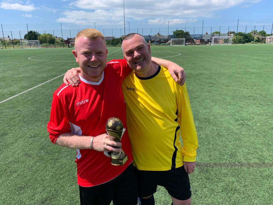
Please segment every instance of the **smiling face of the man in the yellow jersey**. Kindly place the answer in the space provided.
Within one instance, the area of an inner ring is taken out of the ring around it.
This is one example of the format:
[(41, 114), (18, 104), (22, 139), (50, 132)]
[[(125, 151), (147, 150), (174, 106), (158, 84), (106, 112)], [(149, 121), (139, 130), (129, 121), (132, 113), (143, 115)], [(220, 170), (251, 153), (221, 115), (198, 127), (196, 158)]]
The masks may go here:
[(122, 49), (125, 60), (139, 76), (146, 76), (150, 73), (151, 49), (141, 36), (135, 34), (129, 40), (123, 40)]

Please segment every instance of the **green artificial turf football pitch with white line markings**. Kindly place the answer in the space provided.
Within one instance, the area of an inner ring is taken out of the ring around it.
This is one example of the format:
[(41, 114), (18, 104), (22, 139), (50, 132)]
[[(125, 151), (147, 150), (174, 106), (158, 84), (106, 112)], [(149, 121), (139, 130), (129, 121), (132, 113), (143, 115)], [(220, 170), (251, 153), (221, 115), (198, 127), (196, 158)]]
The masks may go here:
[[(273, 204), (273, 45), (151, 49), (187, 73), (199, 142), (192, 204)], [(53, 145), (46, 128), (62, 74), (77, 67), (71, 52), (0, 50), (0, 204), (79, 204), (76, 151)], [(108, 60), (120, 58), (108, 48)], [(155, 200), (171, 204), (160, 186)]]

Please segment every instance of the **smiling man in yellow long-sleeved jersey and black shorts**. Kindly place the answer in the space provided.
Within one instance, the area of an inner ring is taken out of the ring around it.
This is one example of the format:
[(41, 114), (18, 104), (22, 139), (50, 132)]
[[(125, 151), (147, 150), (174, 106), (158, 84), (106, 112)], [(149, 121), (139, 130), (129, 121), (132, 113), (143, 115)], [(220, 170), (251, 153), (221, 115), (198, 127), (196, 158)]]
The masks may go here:
[(122, 50), (133, 69), (122, 88), (141, 205), (154, 204), (158, 185), (173, 205), (191, 204), (188, 174), (195, 169), (198, 142), (186, 84), (178, 85), (166, 68), (152, 63), (150, 45), (140, 34), (125, 36)]

